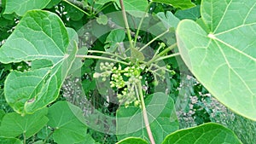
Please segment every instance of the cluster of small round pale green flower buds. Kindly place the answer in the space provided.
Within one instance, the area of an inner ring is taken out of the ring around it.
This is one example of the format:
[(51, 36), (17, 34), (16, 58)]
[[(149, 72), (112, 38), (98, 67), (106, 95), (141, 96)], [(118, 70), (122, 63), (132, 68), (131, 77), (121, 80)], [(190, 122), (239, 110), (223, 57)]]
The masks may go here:
[(138, 66), (126, 66), (124, 69), (122, 66), (114, 66), (113, 63), (100, 63), (100, 70), (102, 73), (94, 73), (94, 78), (102, 78), (102, 81), (106, 81), (106, 78), (110, 77), (110, 87), (116, 89), (122, 89), (117, 94), (119, 102), (125, 104), (128, 107), (132, 102), (136, 106), (140, 105), (137, 100), (135, 88), (137, 83), (141, 83), (142, 68)]

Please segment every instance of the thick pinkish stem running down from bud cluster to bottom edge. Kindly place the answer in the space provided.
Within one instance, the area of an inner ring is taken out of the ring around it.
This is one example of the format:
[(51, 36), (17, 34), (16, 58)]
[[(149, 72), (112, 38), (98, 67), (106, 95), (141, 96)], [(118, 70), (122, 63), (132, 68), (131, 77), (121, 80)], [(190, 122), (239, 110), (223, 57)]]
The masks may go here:
[(143, 119), (144, 119), (144, 124), (145, 124), (146, 130), (148, 132), (148, 138), (149, 138), (149, 141), (151, 144), (155, 144), (154, 136), (152, 134), (152, 131), (150, 129), (150, 125), (148, 122), (148, 114), (147, 114), (147, 109), (146, 109), (145, 102), (144, 102), (143, 87), (142, 87), (141, 82), (137, 83), (137, 89), (139, 91), (139, 97), (140, 97), (140, 101), (142, 104)]

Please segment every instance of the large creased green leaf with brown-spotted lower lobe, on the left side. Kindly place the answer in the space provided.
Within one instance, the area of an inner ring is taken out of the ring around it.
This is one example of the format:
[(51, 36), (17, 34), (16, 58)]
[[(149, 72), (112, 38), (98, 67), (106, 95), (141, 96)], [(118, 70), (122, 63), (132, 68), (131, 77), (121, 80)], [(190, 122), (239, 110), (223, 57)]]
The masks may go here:
[(35, 112), (55, 101), (77, 52), (74, 41), (69, 44), (72, 31), (56, 14), (32, 10), (3, 44), (0, 62), (32, 60), (31, 71), (11, 72), (5, 81), (5, 98), (15, 112)]

